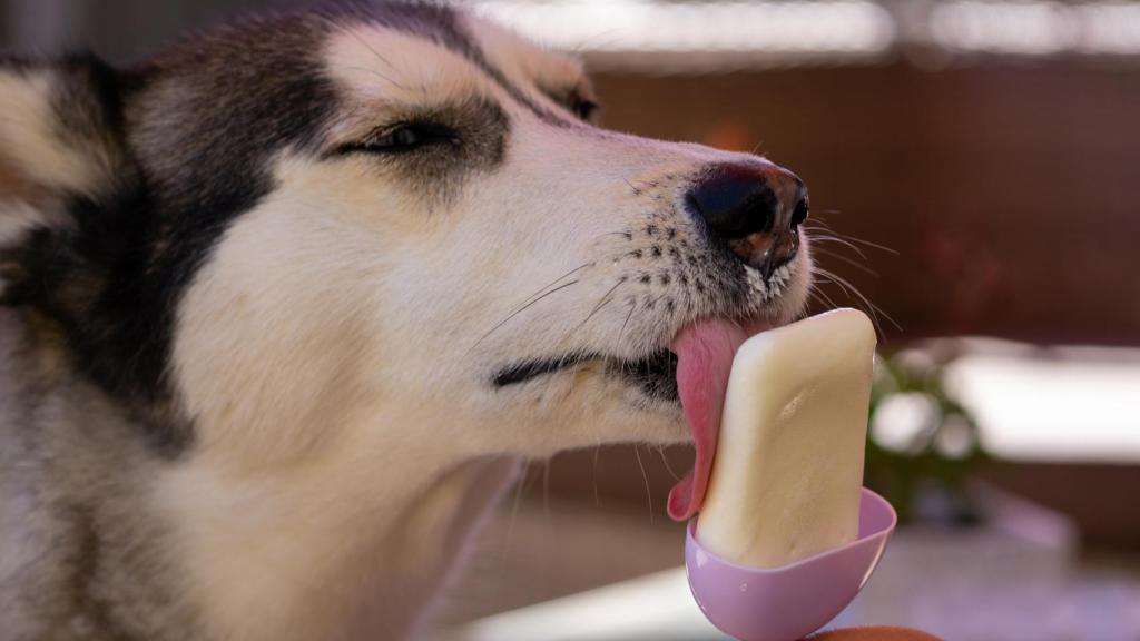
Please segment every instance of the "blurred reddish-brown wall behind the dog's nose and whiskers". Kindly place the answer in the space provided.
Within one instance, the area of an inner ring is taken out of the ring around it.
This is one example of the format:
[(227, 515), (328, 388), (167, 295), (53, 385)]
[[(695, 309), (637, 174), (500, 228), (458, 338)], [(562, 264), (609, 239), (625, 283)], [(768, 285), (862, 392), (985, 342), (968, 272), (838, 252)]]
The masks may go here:
[(825, 268), (895, 319), (881, 318), (893, 341), (964, 333), (1140, 344), (1140, 65), (596, 81), (608, 125), (759, 145), (807, 181), (816, 219), (896, 251), (863, 246), (864, 261), (817, 245), (842, 254), (821, 253)]

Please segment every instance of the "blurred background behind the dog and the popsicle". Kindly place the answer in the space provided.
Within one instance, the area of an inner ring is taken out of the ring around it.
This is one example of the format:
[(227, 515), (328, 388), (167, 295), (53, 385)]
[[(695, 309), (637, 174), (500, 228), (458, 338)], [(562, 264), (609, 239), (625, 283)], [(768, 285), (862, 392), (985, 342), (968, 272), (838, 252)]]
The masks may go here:
[[(129, 64), (309, 3), (2, 0), (0, 42)], [(880, 325), (868, 482), (906, 521), (839, 623), (1140, 639), (1140, 3), (469, 5), (579, 52), (606, 127), (755, 149), (807, 181), (816, 309)], [(531, 465), (439, 634), (717, 639), (665, 517), (691, 457)]]

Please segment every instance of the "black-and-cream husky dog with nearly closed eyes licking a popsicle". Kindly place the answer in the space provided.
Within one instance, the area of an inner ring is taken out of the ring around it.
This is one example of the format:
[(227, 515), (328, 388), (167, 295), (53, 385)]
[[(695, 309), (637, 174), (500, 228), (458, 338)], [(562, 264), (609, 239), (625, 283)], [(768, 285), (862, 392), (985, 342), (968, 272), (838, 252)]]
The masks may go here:
[(401, 639), (518, 461), (690, 439), (806, 192), (435, 5), (0, 63), (0, 639)]

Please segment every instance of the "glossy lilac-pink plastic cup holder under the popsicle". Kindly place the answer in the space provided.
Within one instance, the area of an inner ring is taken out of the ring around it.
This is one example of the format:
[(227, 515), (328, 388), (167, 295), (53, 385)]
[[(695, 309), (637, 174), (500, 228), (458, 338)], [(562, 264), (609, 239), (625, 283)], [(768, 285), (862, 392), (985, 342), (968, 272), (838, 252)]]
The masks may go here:
[(890, 503), (864, 487), (856, 541), (781, 568), (760, 569), (701, 547), (693, 519), (685, 538), (689, 587), (722, 632), (741, 641), (796, 641), (826, 625), (855, 599), (897, 521)]

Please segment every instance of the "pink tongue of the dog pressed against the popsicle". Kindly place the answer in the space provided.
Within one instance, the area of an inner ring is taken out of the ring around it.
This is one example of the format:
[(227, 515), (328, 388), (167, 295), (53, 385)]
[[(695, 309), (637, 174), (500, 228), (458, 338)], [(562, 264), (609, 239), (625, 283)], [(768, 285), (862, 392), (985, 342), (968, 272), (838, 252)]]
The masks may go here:
[(741, 327), (725, 319), (701, 320), (682, 330), (673, 341), (681, 407), (697, 446), (693, 471), (669, 492), (668, 510), (674, 520), (687, 520), (701, 509), (712, 471), (732, 359), (741, 343), (768, 327), (765, 323)]

